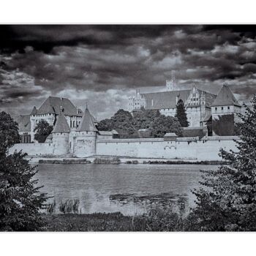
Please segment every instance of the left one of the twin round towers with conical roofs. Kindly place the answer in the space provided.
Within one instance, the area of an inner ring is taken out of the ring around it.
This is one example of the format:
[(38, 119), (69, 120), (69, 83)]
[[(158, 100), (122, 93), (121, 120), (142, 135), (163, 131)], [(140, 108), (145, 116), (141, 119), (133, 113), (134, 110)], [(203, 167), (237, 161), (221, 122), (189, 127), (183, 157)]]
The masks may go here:
[(53, 154), (62, 155), (69, 153), (69, 132), (69, 124), (67, 124), (67, 120), (61, 110), (52, 132)]

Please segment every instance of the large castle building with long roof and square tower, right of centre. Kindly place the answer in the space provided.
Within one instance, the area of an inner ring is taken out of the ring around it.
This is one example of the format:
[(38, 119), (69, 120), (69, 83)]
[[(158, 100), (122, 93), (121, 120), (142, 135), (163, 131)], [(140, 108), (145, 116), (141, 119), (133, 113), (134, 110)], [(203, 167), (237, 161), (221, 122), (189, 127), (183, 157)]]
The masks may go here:
[(237, 119), (236, 113), (241, 113), (241, 105), (226, 85), (215, 95), (197, 89), (195, 85), (189, 90), (176, 90), (173, 80), (166, 80), (166, 91), (163, 92), (140, 94), (140, 89), (136, 89), (135, 96), (129, 97), (129, 111), (145, 108), (175, 116), (179, 99), (184, 102), (189, 127), (206, 126), (211, 119), (224, 115), (233, 115)]

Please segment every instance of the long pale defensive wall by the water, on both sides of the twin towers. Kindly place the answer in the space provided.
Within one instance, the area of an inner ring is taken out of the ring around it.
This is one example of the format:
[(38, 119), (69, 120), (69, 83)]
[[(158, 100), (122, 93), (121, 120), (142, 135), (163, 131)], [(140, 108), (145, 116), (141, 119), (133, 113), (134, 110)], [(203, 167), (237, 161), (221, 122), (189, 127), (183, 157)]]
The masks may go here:
[[(221, 160), (219, 148), (237, 151), (235, 136), (214, 136), (208, 138), (139, 138), (139, 139), (97, 139), (94, 155), (149, 159), (193, 159), (198, 161)], [(68, 145), (67, 145), (68, 146)], [(26, 152), (29, 156), (57, 155), (53, 143), (19, 143), (10, 148)], [(74, 156), (79, 157), (79, 156)]]

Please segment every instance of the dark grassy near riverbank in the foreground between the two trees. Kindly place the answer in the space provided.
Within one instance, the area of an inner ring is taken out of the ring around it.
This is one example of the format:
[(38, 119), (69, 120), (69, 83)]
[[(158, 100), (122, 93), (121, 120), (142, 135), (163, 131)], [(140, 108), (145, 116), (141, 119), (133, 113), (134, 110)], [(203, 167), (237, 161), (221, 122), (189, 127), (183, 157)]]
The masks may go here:
[(110, 214), (43, 215), (48, 232), (127, 232), (127, 231), (188, 231), (186, 218), (170, 211), (157, 211), (135, 217), (120, 212)]

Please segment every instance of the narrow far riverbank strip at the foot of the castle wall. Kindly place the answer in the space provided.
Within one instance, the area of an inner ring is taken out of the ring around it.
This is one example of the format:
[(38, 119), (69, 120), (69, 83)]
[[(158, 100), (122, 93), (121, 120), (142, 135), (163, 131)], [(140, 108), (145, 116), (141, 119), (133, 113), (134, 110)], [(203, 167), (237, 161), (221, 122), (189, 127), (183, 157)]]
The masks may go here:
[(197, 159), (154, 159), (154, 158), (116, 158), (116, 157), (87, 157), (87, 158), (44, 158), (27, 157), (31, 164), (127, 164), (127, 165), (220, 165), (222, 161), (198, 161)]

